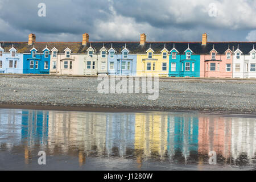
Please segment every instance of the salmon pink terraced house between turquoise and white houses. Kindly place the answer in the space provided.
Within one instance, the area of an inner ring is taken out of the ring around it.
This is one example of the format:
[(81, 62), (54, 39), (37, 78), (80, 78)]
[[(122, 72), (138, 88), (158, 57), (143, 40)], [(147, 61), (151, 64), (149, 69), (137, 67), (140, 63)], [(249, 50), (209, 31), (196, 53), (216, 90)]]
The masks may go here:
[(229, 46), (220, 51), (216, 51), (213, 44), (209, 54), (200, 56), (200, 77), (232, 78), (232, 51)]

